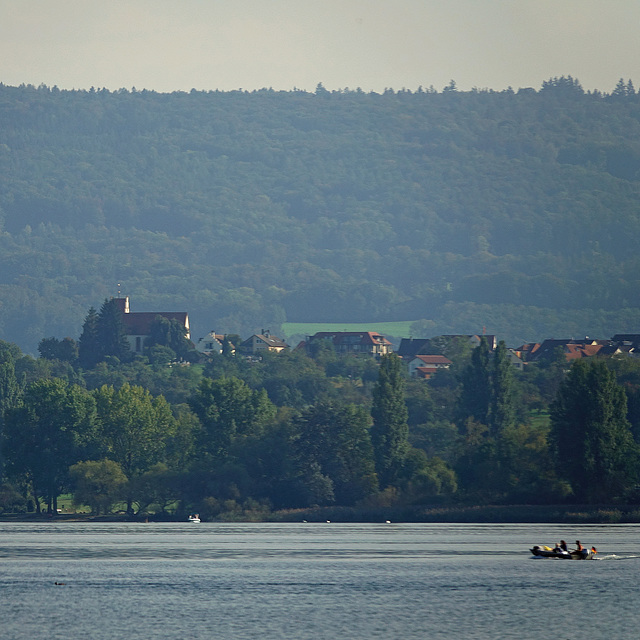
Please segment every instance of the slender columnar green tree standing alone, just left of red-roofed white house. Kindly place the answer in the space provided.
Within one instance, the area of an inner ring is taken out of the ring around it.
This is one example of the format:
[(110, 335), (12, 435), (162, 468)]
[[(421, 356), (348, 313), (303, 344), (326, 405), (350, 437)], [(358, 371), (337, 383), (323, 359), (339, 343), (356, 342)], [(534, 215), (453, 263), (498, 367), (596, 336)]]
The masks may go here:
[(409, 451), (404, 389), (402, 361), (395, 354), (382, 356), (371, 408), (371, 441), (381, 489), (398, 480)]

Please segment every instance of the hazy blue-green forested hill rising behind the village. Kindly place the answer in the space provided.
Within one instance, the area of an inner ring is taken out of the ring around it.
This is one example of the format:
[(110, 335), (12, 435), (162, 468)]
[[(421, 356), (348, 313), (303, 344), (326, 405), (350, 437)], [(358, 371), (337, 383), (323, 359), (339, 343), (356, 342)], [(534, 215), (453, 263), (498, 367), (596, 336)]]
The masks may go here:
[(640, 95), (60, 91), (0, 85), (0, 339), (90, 306), (194, 337), (288, 321), (640, 328)]

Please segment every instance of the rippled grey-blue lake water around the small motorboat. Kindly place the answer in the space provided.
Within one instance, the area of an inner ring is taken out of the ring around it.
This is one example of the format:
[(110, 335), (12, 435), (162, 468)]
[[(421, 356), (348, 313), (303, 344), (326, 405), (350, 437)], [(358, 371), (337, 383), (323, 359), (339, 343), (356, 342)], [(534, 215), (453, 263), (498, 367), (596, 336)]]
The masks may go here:
[(620, 640), (639, 575), (639, 525), (10, 523), (0, 637)]

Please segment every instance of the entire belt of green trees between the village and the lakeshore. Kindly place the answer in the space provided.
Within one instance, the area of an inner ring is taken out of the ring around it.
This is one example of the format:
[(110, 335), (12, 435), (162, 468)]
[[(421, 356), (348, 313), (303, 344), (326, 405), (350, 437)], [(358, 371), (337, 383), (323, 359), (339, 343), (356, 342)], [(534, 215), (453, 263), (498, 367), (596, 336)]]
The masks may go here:
[(569, 369), (558, 354), (517, 373), (504, 343), (431, 342), (454, 365), (428, 382), (395, 355), (343, 357), (330, 343), (313, 357), (169, 367), (109, 355), (93, 368), (0, 343), (0, 508), (54, 512), (69, 491), (94, 512), (205, 517), (635, 499), (640, 363)]

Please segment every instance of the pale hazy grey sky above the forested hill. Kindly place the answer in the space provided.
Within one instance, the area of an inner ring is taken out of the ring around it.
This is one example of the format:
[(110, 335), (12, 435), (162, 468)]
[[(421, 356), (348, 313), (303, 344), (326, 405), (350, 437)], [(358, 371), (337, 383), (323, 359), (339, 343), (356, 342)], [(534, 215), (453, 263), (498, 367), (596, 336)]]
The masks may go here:
[(0, 82), (157, 91), (640, 84), (640, 0), (0, 0)]

